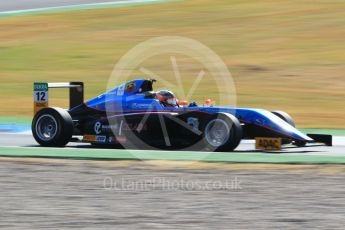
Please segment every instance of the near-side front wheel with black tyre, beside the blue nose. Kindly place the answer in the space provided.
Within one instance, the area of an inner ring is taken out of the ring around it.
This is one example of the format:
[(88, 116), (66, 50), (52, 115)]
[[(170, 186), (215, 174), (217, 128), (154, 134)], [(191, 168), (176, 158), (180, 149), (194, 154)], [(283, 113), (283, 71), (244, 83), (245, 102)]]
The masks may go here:
[(239, 120), (228, 113), (217, 113), (205, 124), (203, 140), (206, 150), (233, 151), (240, 144), (243, 131)]

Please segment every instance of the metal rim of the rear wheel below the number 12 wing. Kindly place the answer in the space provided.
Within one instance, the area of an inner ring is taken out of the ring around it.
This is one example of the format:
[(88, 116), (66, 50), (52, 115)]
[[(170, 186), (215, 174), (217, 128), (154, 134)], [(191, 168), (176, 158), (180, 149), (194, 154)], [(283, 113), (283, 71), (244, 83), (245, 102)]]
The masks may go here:
[(43, 141), (52, 140), (57, 133), (56, 119), (49, 114), (42, 115), (36, 122), (36, 134)]

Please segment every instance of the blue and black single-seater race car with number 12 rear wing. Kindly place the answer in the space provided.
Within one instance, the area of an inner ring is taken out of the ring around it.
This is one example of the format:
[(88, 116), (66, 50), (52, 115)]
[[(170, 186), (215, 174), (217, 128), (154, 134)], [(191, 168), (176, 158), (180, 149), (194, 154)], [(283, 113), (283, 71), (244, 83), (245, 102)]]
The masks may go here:
[[(232, 151), (242, 139), (274, 148), (289, 143), (332, 144), (332, 137), (305, 135), (285, 112), (179, 103), (155, 80), (132, 80), (89, 101), (83, 83), (35, 83), (32, 133), (42, 146), (79, 141), (126, 148)], [(70, 109), (48, 107), (49, 88), (70, 88)], [(260, 144), (260, 143), (259, 143)]]

